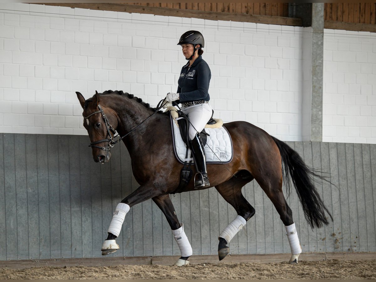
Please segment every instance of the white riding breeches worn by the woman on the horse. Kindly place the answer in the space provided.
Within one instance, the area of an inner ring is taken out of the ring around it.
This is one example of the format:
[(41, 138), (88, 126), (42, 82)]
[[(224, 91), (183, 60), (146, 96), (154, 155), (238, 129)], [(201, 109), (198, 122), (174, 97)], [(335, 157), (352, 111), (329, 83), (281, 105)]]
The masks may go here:
[(210, 104), (199, 104), (181, 108), (188, 115), (190, 125), (188, 127), (189, 138), (192, 140), (197, 132), (201, 132), (212, 115)]

